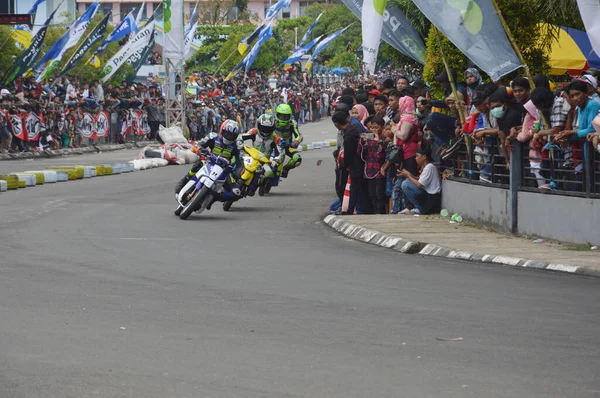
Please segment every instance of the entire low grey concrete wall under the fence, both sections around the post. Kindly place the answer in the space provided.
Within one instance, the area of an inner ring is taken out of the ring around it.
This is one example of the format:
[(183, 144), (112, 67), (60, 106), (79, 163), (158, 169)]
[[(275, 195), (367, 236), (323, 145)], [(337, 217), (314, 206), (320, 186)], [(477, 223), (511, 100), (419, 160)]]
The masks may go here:
[[(519, 192), (518, 202), (519, 234), (600, 245), (600, 199)], [(446, 180), (442, 207), (462, 214), (467, 221), (510, 232), (507, 189)]]

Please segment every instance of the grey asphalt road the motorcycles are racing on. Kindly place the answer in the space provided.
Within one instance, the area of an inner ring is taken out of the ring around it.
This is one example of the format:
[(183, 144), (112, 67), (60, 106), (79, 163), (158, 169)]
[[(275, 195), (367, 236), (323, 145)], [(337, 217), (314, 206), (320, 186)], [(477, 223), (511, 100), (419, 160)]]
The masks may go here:
[(600, 280), (340, 238), (332, 165), (187, 221), (185, 166), (0, 194), (0, 397), (600, 396)]

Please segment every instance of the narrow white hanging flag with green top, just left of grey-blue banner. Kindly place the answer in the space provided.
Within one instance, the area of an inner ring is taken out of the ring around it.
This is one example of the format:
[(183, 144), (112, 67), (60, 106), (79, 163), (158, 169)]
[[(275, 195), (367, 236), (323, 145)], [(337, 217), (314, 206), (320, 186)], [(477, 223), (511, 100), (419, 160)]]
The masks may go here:
[(362, 9), (363, 62), (370, 74), (375, 73), (381, 30), (383, 29), (383, 13), (386, 0), (364, 0)]

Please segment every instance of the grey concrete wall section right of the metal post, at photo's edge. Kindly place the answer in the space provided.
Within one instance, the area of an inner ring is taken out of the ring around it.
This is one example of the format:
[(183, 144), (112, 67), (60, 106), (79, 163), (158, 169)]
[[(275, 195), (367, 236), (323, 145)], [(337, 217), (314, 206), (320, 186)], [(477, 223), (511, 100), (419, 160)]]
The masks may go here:
[(600, 245), (600, 199), (519, 192), (519, 233)]

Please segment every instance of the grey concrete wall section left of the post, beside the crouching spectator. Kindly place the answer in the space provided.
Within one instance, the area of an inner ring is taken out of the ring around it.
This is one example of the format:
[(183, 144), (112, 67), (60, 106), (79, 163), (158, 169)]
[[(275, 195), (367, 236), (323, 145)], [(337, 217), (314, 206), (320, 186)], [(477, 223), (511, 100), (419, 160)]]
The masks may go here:
[(442, 183), (442, 208), (462, 214), (465, 220), (510, 232), (507, 189), (446, 180)]

